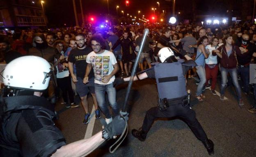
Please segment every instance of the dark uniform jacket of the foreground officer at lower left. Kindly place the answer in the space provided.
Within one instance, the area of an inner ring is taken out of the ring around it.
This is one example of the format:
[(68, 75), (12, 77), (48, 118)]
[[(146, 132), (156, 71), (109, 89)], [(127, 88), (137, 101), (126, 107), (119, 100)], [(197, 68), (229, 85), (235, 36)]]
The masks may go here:
[(48, 157), (66, 144), (52, 120), (54, 106), (44, 97), (14, 96), (4, 102), (1, 157)]

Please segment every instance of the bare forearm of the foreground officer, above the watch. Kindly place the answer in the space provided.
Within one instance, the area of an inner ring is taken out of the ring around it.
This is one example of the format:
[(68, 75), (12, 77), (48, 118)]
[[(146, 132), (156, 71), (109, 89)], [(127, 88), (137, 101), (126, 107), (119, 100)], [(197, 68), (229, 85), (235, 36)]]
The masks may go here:
[(98, 132), (89, 139), (82, 139), (71, 144), (67, 144), (57, 149), (51, 157), (84, 157), (100, 146), (105, 139), (102, 133)]

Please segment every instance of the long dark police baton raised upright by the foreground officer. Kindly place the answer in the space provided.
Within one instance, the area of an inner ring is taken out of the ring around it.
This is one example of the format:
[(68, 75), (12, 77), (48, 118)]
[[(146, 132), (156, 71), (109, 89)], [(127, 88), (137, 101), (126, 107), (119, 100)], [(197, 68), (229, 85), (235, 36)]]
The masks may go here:
[(134, 63), (134, 66), (133, 66), (133, 71), (131, 73), (130, 81), (129, 81), (128, 88), (127, 88), (127, 91), (126, 91), (126, 97), (125, 97), (125, 100), (124, 100), (124, 103), (123, 103), (123, 109), (121, 111), (123, 113), (126, 113), (126, 106), (127, 106), (127, 102), (128, 102), (128, 98), (129, 98), (129, 94), (130, 94), (130, 89), (132, 88), (132, 85), (133, 85), (133, 79), (134, 79), (134, 76), (135, 76), (135, 73), (136, 73), (136, 70), (137, 70), (137, 66), (139, 64), (139, 57), (140, 57), (140, 54), (143, 51), (145, 41), (146, 41), (146, 36), (148, 35), (148, 33), (149, 33), (149, 29), (144, 29), (142, 42), (139, 46), (139, 52), (138, 52), (138, 55), (135, 59), (135, 63)]

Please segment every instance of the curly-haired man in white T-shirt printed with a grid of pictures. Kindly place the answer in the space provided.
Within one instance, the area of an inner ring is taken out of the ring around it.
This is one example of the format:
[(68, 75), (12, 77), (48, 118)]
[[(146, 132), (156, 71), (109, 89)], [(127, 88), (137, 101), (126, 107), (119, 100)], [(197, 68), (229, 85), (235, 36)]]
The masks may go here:
[(112, 117), (108, 105), (105, 104), (105, 92), (107, 92), (108, 101), (115, 117), (119, 115), (119, 106), (117, 105), (117, 91), (113, 87), (113, 82), (115, 80), (114, 75), (118, 72), (119, 66), (114, 53), (105, 50), (105, 40), (101, 36), (94, 35), (90, 41), (93, 51), (86, 58), (88, 64), (83, 82), (85, 84), (90, 83), (89, 76), (91, 68), (93, 68), (96, 98), (102, 113), (106, 117), (106, 123), (109, 124), (112, 122)]

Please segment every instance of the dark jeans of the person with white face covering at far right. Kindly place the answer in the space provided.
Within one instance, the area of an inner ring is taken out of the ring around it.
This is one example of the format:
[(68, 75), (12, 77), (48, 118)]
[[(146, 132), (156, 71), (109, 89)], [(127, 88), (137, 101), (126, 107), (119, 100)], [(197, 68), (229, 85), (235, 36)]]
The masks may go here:
[(244, 91), (249, 92), (250, 66), (238, 66), (238, 73), (241, 74), (242, 87), (244, 87)]

